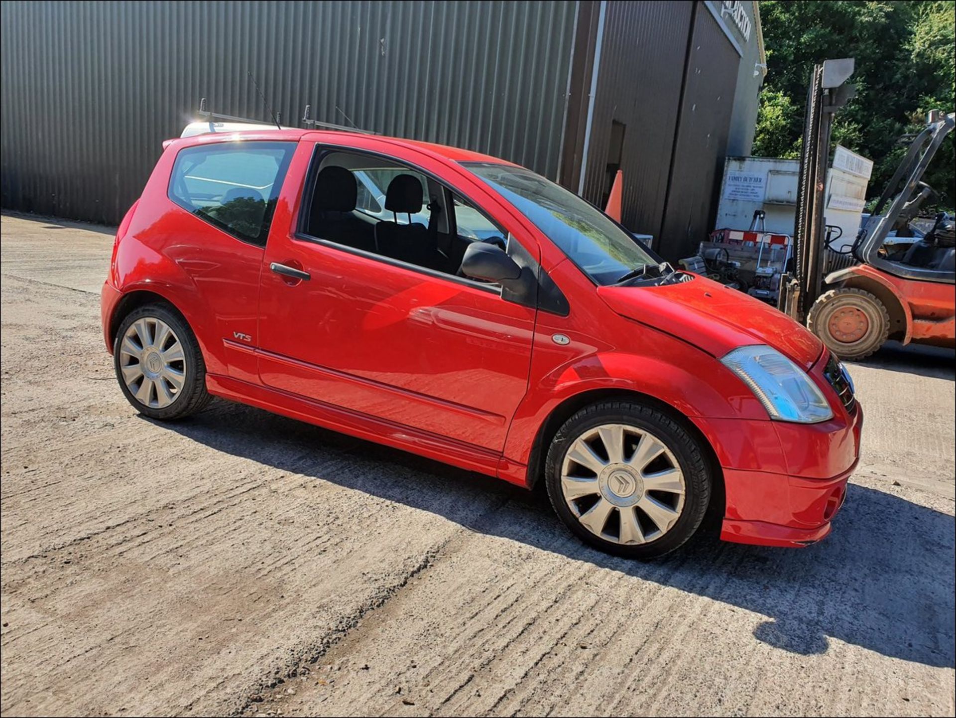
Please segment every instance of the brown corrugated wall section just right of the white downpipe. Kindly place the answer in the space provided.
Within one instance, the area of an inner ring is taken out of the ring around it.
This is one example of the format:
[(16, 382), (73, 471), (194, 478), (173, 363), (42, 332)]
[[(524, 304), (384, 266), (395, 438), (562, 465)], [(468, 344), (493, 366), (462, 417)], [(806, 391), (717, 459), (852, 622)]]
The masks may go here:
[(655, 237), (663, 221), (693, 5), (609, 3), (604, 21), (582, 196), (600, 204), (612, 121), (623, 123), (622, 224)]

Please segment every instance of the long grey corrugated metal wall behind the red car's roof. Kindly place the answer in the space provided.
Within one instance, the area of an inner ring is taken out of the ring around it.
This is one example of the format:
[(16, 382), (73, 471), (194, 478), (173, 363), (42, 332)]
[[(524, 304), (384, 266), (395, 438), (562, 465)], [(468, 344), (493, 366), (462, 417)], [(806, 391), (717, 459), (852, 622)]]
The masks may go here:
[[(576, 3), (5, 2), (3, 207), (120, 221), (201, 97), (556, 177)], [(337, 109), (338, 108), (338, 109)], [(339, 112), (340, 110), (340, 112)]]

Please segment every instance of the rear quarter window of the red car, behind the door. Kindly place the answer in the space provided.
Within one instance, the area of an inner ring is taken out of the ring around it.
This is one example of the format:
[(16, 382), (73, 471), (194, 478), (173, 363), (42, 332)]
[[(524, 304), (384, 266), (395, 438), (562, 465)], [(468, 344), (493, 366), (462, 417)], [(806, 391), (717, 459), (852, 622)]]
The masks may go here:
[(264, 247), (294, 142), (222, 142), (180, 150), (169, 199), (237, 239)]

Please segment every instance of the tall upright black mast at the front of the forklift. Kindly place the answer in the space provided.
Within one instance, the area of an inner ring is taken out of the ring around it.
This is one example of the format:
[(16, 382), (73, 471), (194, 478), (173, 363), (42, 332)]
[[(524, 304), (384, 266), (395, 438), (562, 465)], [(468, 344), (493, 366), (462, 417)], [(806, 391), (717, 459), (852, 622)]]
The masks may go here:
[(826, 60), (815, 66), (807, 93), (797, 177), (793, 273), (782, 278), (778, 303), (782, 312), (801, 324), (823, 286), (826, 257), (823, 208), (830, 136), (834, 115), (856, 95), (853, 85), (844, 84), (853, 75), (853, 70), (853, 57)]

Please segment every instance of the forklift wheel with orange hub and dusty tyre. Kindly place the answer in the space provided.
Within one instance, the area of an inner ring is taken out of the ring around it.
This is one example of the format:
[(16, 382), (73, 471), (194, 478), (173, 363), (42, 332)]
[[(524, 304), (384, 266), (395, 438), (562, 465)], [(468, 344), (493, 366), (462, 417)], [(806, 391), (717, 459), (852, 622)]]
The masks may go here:
[(807, 328), (840, 359), (864, 359), (890, 333), (890, 315), (873, 294), (860, 289), (830, 290), (814, 302)]

